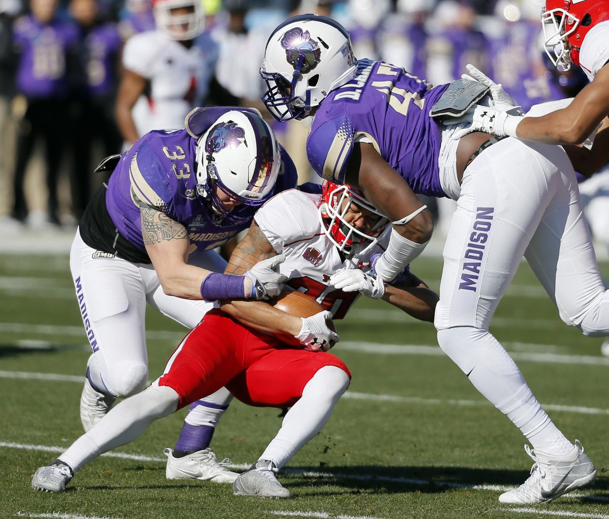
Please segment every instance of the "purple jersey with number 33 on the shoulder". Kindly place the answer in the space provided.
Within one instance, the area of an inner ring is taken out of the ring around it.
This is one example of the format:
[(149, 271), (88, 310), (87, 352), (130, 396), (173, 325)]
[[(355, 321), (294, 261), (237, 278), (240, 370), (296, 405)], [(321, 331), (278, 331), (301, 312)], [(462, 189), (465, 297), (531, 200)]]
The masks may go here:
[[(205, 130), (230, 108), (208, 112)], [(205, 113), (205, 112), (204, 112)], [(199, 117), (202, 129), (203, 117)], [(135, 142), (121, 157), (108, 183), (106, 205), (116, 228), (128, 242), (144, 249), (139, 206), (136, 198), (156, 207), (184, 225), (191, 241), (191, 253), (213, 249), (248, 228), (256, 207), (233, 210), (247, 221), (236, 225), (214, 222), (211, 209), (197, 195), (195, 164), (196, 140), (186, 130), (154, 130)], [(281, 148), (282, 167), (273, 194), (292, 189), (297, 183), (294, 163)], [(194, 248), (193, 248), (194, 246)]]

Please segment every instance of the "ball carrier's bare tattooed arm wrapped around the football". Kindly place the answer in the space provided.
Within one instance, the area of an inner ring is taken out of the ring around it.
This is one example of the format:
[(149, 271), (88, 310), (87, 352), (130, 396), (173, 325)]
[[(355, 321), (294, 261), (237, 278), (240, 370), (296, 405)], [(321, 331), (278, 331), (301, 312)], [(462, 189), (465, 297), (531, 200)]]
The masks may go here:
[[(273, 246), (255, 221), (244, 239), (234, 248), (225, 274), (242, 275), (261, 260), (276, 256)], [(234, 319), (263, 332), (296, 335), (302, 321), (262, 301), (222, 301), (220, 308)]]

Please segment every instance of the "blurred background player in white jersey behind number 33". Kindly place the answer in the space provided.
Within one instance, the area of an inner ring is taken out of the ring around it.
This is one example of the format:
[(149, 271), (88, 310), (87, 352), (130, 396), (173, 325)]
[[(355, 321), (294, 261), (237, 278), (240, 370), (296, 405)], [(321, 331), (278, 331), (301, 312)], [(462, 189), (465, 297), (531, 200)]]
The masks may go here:
[(216, 63), (216, 44), (202, 34), (202, 0), (153, 0), (157, 30), (127, 40), (116, 121), (128, 145), (144, 133), (181, 128), (205, 99)]

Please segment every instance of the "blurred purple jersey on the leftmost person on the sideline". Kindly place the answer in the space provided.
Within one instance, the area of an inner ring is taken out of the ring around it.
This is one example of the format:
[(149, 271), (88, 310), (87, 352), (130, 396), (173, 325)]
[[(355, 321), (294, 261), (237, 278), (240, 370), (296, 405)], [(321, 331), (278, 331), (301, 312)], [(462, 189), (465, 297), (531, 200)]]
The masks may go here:
[(13, 41), (21, 52), (17, 71), (19, 91), (28, 97), (62, 96), (68, 89), (66, 51), (76, 43), (74, 24), (41, 24), (33, 16), (15, 22)]

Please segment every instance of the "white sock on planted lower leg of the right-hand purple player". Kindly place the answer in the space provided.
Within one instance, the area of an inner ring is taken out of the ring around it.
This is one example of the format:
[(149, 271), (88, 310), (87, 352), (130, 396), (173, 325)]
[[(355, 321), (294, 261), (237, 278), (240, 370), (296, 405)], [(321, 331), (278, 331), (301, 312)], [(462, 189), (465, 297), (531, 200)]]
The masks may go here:
[(507, 416), (533, 449), (561, 456), (573, 444), (552, 423), (512, 357), (488, 331), (455, 327), (438, 331), (438, 344), (484, 397)]

